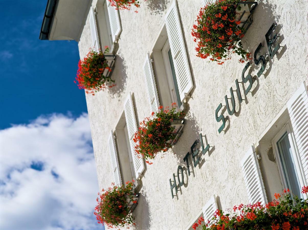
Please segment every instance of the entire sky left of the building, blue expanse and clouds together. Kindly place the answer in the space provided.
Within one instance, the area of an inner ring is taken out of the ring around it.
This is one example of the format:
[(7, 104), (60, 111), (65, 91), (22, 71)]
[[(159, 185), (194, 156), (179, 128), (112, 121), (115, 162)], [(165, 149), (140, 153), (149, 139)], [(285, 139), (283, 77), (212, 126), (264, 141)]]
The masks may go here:
[(47, 0), (0, 0), (0, 229), (103, 229), (75, 41), (41, 41)]

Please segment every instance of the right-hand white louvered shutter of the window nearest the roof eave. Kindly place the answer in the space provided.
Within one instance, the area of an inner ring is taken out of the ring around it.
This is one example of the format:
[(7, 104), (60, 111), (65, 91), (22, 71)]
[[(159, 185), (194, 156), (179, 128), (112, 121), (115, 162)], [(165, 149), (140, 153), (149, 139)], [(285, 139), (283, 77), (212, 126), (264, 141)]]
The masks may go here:
[(119, 10), (116, 10), (115, 6), (111, 6), (111, 2), (109, 1), (107, 1), (107, 10), (109, 16), (112, 42), (117, 42), (117, 39), (122, 31)]

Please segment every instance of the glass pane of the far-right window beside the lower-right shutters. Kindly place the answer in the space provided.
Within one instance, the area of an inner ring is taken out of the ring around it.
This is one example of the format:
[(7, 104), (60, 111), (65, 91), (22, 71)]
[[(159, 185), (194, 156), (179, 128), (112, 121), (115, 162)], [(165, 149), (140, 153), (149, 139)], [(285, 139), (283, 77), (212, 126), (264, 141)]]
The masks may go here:
[(277, 146), (287, 186), (290, 189), (290, 192), (292, 192), (295, 196), (301, 197), (302, 194), (296, 172), (296, 165), (287, 133), (279, 139)]

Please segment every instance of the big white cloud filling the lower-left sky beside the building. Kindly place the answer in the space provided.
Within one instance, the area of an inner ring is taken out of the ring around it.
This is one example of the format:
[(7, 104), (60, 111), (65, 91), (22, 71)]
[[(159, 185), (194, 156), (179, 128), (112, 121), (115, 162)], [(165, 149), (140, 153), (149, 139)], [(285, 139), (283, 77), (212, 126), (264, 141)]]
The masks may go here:
[(0, 229), (102, 229), (97, 192), (87, 114), (0, 130)]

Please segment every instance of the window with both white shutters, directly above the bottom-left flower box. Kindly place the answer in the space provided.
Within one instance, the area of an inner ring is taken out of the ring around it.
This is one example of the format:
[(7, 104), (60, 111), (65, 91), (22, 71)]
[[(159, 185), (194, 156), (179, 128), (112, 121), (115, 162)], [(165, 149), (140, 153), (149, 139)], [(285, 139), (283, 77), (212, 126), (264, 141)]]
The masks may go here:
[(137, 183), (144, 172), (144, 160), (134, 153), (136, 144), (133, 137), (136, 131), (135, 108), (132, 95), (129, 95), (125, 100), (124, 111), (115, 127), (115, 132), (111, 132), (111, 137), (108, 139), (115, 184), (125, 185), (125, 182), (132, 180)]

